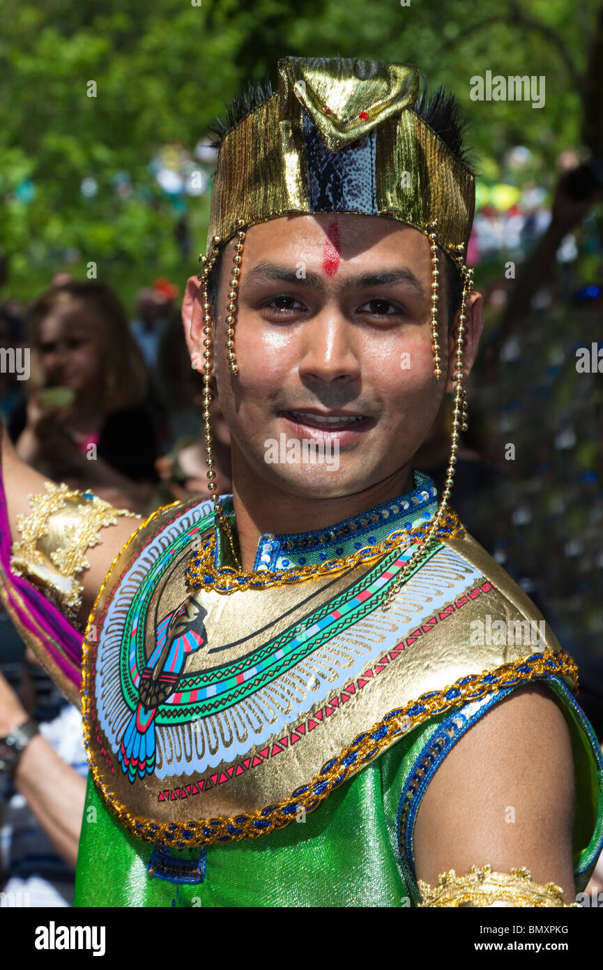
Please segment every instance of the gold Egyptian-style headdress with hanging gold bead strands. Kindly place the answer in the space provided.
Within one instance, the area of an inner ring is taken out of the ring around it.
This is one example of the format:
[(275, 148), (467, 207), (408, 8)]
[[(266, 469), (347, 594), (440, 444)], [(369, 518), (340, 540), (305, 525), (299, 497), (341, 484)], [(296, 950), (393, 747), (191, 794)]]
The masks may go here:
[[(450, 511), (445, 503), (453, 484), (459, 429), (466, 430), (462, 341), (472, 280), (464, 253), (473, 221), (475, 183), (467, 166), (414, 110), (418, 95), (419, 69), (411, 65), (286, 57), (278, 62), (277, 91), (241, 118), (220, 146), (211, 192), (207, 255), (200, 257), (204, 264), (200, 279), (204, 294), (206, 456), (209, 492), (237, 562), (233, 536), (217, 500), (211, 454), (213, 333), (207, 283), (220, 245), (236, 237), (226, 317), (227, 356), (231, 372), (236, 374), (235, 324), (245, 229), (282, 215), (355, 212), (387, 216), (428, 237), (431, 339), (438, 378), (438, 246), (457, 266), (463, 289), (451, 458), (442, 501), (425, 539), (420, 540), (421, 549), (427, 549)], [(414, 556), (407, 566), (411, 563), (416, 565)], [(199, 571), (193, 569), (197, 575)], [(408, 571), (402, 570), (396, 589)], [(244, 584), (235, 582), (221, 592), (241, 588)]]

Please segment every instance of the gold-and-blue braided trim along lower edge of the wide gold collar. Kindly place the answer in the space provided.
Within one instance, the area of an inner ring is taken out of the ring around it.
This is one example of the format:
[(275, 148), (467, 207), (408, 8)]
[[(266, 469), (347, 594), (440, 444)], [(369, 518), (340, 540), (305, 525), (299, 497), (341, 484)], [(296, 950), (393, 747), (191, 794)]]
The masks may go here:
[[(534, 656), (530, 655), (530, 657)], [(302, 809), (306, 813), (313, 812), (346, 778), (377, 758), (384, 748), (393, 743), (395, 737), (423, 724), (429, 718), (444, 714), (469, 700), (494, 694), (506, 687), (517, 687), (552, 675), (567, 677), (576, 684), (578, 682), (578, 668), (569, 654), (547, 648), (538, 659), (531, 662), (528, 658), (519, 658), (513, 663), (503, 663), (493, 670), (484, 670), (481, 675), (469, 674), (460, 677), (452, 687), (446, 687), (441, 691), (429, 691), (428, 694), (421, 695), (418, 700), (410, 701), (403, 707), (390, 711), (368, 731), (359, 734), (337, 758), (327, 761), (322, 770), (314, 775), (307, 785), (297, 789), (290, 797), (284, 798), (278, 804), (234, 817), (220, 816), (212, 819), (190, 820), (185, 823), (156, 824), (128, 812), (127, 807), (118, 801), (108, 786), (101, 781), (100, 771), (94, 763), (94, 754), (90, 748), (89, 727), (89, 719), (92, 718), (93, 685), (87, 664), (84, 665), (83, 670), (82, 694), (84, 744), (97, 791), (101, 793), (106, 805), (119, 822), (138, 838), (147, 842), (163, 840), (163, 844), (168, 845), (184, 842), (187, 848), (209, 845), (218, 841), (253, 839), (290, 824)], [(488, 677), (486, 683), (484, 683), (485, 677)], [(492, 683), (492, 678), (495, 678), (497, 683)], [(417, 711), (417, 707), (422, 709)]]

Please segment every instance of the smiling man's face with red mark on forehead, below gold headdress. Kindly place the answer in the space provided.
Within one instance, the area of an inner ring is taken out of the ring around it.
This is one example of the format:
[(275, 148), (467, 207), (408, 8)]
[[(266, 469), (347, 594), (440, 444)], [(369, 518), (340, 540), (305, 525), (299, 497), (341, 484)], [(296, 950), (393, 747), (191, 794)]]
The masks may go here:
[[(234, 244), (222, 262), (213, 353), (235, 481), (253, 475), (292, 496), (329, 499), (394, 480), (428, 436), (445, 387), (433, 375), (427, 238), (355, 214), (252, 226), (238, 277), (236, 376), (224, 323)], [(203, 351), (202, 340), (192, 349)]]

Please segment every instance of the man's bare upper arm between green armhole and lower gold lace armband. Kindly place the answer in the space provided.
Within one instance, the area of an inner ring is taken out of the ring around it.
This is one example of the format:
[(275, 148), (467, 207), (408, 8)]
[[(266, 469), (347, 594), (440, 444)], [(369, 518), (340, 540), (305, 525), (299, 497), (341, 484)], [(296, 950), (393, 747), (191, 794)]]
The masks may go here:
[(529, 686), (506, 697), (460, 738), (436, 771), (417, 815), (417, 876), (472, 865), (525, 866), (574, 899), (574, 768), (569, 730), (554, 696)]

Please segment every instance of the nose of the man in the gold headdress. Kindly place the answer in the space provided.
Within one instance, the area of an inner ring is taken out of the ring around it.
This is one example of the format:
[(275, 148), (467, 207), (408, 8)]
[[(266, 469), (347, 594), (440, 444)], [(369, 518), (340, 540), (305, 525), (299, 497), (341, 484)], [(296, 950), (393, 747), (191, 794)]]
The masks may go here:
[(336, 309), (325, 309), (303, 328), (300, 375), (330, 384), (351, 382), (360, 376), (360, 361), (352, 324)]

